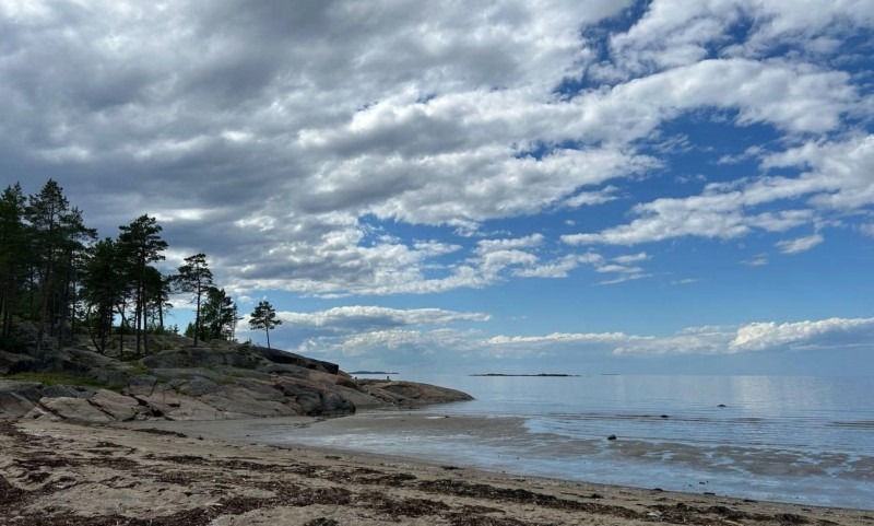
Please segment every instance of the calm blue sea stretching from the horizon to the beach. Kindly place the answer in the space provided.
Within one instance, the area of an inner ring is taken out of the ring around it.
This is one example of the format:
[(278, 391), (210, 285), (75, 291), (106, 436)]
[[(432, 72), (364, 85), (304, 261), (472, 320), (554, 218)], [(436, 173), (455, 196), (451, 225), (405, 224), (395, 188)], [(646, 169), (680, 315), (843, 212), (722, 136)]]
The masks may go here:
[(273, 436), (454, 467), (874, 510), (874, 378), (401, 375), (473, 401)]

